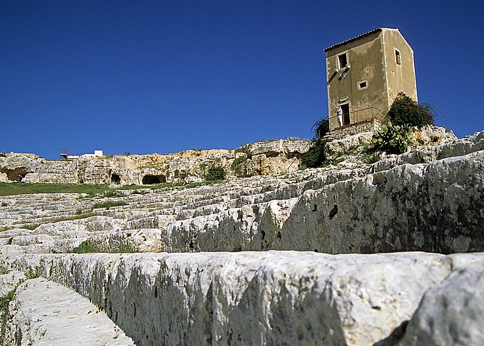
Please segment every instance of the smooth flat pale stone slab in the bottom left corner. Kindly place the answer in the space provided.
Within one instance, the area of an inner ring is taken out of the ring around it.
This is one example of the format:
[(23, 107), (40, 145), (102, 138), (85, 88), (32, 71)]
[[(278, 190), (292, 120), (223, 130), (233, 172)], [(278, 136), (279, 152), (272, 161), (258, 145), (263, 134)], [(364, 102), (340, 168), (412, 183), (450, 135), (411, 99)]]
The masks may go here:
[(134, 345), (89, 300), (44, 278), (17, 287), (10, 314), (3, 345)]

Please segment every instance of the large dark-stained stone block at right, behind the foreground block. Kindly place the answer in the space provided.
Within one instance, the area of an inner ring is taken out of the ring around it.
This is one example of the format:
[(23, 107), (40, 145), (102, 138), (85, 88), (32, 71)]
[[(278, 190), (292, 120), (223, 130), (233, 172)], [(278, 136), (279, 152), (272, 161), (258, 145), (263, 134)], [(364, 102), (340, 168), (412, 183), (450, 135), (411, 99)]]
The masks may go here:
[(484, 151), (397, 166), (306, 191), (274, 247), (326, 253), (483, 251), (483, 201)]

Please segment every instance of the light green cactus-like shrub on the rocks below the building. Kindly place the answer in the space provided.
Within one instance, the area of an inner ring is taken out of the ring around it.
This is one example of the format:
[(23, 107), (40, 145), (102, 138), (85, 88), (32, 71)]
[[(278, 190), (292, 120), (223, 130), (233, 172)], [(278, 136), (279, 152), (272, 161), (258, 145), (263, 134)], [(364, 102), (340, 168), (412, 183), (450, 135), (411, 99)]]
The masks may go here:
[(373, 149), (385, 151), (389, 154), (401, 154), (407, 151), (411, 144), (409, 138), (410, 130), (408, 126), (393, 125), (389, 122), (382, 125), (380, 130), (375, 131), (373, 135)]

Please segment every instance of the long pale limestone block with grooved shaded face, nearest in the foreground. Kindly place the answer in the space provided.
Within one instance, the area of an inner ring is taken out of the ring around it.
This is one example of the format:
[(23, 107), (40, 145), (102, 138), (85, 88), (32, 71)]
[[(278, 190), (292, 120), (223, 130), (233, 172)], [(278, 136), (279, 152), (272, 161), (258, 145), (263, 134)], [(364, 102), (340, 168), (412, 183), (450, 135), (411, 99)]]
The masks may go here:
[(428, 253), (38, 255), (40, 265), (137, 345), (371, 345), (452, 271)]

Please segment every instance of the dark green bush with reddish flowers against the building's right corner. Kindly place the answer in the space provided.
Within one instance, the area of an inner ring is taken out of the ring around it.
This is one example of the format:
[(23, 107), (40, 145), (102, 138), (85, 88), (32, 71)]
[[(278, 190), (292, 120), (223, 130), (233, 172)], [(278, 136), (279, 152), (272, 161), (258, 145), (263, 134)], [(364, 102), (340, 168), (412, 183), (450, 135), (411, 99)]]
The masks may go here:
[(418, 104), (400, 91), (388, 115), (393, 125), (425, 126), (434, 124), (435, 113), (430, 104)]

